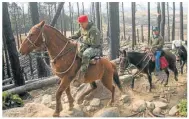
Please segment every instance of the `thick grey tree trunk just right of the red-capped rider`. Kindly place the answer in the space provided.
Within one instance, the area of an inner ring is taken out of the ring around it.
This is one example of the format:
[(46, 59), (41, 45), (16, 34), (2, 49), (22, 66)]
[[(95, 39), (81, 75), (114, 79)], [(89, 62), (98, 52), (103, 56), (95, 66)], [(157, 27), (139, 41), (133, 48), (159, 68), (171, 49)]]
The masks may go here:
[(110, 58), (116, 59), (119, 51), (119, 3), (110, 2), (109, 3), (109, 16), (110, 16)]

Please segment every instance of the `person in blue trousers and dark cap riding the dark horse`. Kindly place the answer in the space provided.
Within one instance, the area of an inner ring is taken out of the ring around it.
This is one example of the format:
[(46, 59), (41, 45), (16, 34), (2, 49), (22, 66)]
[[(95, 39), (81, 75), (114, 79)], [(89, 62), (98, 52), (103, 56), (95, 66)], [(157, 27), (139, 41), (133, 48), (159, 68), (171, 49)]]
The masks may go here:
[(153, 28), (153, 41), (152, 41), (152, 49), (155, 50), (155, 64), (156, 64), (156, 72), (160, 71), (160, 56), (162, 53), (164, 41), (163, 37), (159, 34), (158, 27)]

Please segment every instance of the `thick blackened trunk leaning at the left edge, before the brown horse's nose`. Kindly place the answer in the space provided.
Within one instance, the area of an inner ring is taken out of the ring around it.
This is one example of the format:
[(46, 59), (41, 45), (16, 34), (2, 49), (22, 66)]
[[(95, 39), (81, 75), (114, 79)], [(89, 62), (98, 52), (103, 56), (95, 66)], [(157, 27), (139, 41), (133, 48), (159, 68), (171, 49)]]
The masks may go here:
[(8, 4), (6, 2), (3, 2), (3, 34), (6, 39), (15, 86), (24, 85), (25, 81), (21, 72), (20, 61), (16, 49), (15, 39), (11, 29), (11, 22), (8, 13)]

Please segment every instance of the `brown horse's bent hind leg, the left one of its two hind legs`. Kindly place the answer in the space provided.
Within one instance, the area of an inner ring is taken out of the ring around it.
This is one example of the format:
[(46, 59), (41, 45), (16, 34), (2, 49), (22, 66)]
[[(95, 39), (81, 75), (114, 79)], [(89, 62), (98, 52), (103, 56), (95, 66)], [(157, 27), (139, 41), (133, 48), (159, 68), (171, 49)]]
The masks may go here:
[(78, 99), (78, 104), (81, 104), (81, 103), (83, 102), (84, 97), (85, 97), (86, 95), (88, 95), (90, 92), (92, 92), (94, 89), (97, 88), (97, 85), (96, 85), (95, 82), (90, 83), (90, 86), (91, 86), (91, 89), (89, 89), (88, 91), (86, 91), (85, 93), (83, 93), (83, 94), (79, 97), (79, 99)]

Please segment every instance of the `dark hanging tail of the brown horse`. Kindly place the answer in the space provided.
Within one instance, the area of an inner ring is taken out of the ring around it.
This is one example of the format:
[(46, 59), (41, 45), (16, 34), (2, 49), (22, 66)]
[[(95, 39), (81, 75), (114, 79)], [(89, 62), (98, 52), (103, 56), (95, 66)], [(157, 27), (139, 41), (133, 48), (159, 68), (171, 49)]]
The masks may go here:
[(112, 64), (112, 68), (114, 69), (114, 74), (113, 74), (114, 83), (117, 85), (117, 87), (119, 88), (119, 90), (121, 92), (123, 92), (122, 85), (121, 85), (121, 82), (120, 82), (120, 79), (119, 79), (119, 75), (118, 75), (118, 72), (117, 72), (116, 65), (113, 62), (111, 62), (111, 64)]

